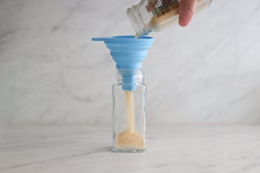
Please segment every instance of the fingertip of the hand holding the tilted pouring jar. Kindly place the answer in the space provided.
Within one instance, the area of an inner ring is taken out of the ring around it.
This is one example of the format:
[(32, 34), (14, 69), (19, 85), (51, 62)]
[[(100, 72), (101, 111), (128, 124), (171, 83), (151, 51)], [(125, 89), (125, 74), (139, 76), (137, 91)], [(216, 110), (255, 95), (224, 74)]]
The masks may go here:
[(179, 24), (180, 26), (187, 26), (196, 10), (196, 3), (198, 0), (182, 0), (179, 8)]

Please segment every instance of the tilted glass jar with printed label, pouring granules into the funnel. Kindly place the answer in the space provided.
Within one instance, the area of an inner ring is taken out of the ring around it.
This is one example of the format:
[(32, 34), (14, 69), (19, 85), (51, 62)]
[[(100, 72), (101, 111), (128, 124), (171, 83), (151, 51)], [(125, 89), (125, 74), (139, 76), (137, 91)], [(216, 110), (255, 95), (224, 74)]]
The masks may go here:
[[(130, 23), (139, 37), (153, 31), (160, 31), (176, 24), (179, 19), (180, 0), (141, 0), (136, 6), (128, 8)], [(196, 12), (206, 8), (211, 0), (198, 0)]]

